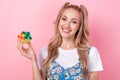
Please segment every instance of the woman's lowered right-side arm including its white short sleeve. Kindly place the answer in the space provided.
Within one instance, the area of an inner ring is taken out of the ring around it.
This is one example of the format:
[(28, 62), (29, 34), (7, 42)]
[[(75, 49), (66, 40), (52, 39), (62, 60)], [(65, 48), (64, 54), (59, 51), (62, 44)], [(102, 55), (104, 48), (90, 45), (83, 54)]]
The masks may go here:
[(103, 70), (102, 61), (99, 55), (99, 51), (96, 47), (92, 47), (89, 50), (89, 79), (88, 80), (99, 80), (99, 71)]

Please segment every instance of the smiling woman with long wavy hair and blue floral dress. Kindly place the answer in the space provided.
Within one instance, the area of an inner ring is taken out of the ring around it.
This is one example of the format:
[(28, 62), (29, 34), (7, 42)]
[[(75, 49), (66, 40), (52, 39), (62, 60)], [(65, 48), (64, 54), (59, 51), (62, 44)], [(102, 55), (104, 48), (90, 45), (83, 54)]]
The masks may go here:
[(33, 66), (33, 80), (98, 80), (103, 70), (99, 52), (89, 44), (88, 12), (84, 5), (65, 3), (55, 21), (55, 35), (41, 48), (38, 62), (31, 43), (18, 49)]

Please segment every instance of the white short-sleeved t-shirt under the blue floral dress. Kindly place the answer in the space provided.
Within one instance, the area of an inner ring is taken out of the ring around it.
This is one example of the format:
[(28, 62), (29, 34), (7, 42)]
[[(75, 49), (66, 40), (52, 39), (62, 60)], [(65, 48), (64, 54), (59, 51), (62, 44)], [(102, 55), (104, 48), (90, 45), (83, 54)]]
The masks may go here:
[[(79, 55), (78, 55), (77, 48), (72, 50), (64, 50), (59, 47), (58, 53), (59, 53), (59, 56), (55, 59), (55, 61), (65, 69), (72, 67), (79, 62)], [(48, 55), (47, 46), (44, 46), (41, 48), (40, 54), (38, 56), (39, 69), (41, 69), (41, 64), (43, 60), (47, 57), (47, 55)], [(101, 58), (96, 47), (92, 46), (90, 48), (88, 58), (89, 58), (88, 70), (90, 72), (103, 70)]]

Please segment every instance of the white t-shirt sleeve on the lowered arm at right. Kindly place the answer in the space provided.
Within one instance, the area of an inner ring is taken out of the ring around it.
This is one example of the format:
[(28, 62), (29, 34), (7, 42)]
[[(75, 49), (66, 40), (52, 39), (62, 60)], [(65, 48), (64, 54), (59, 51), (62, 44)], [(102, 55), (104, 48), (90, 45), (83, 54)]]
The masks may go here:
[(102, 61), (100, 58), (100, 54), (96, 47), (92, 46), (90, 48), (88, 58), (89, 58), (88, 70), (90, 72), (103, 70), (103, 65), (102, 65)]

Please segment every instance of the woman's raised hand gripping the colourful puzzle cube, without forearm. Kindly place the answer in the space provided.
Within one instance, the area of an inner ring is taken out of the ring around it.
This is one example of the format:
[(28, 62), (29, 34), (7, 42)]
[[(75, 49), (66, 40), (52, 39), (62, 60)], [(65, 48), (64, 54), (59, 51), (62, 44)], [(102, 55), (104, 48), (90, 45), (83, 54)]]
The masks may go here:
[(18, 39), (17, 43), (17, 48), (23, 56), (27, 57), (32, 61), (36, 61), (36, 55), (30, 42), (27, 44), (28, 48), (23, 47), (23, 45), (25, 44), (23, 40)]

